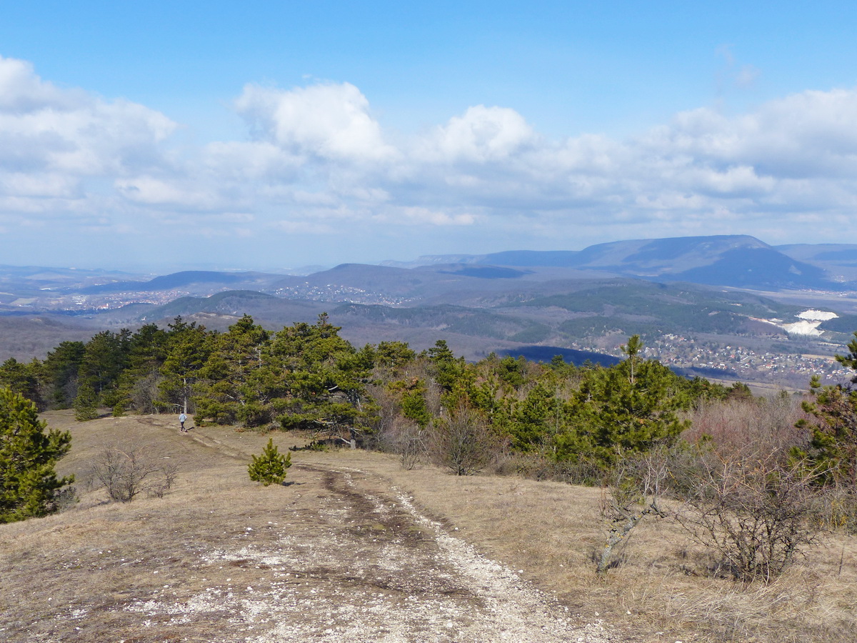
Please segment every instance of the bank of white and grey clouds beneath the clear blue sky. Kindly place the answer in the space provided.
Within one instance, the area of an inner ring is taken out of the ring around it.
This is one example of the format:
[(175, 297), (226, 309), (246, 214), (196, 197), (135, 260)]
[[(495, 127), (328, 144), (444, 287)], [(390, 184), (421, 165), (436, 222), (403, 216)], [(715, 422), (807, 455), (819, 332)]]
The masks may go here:
[(347, 81), (249, 82), (230, 108), (245, 135), (196, 141), (193, 123), (0, 57), (0, 262), (273, 267), (635, 237), (857, 240), (857, 87), (679, 111), (621, 138), (542, 134), (502, 105), (402, 133)]

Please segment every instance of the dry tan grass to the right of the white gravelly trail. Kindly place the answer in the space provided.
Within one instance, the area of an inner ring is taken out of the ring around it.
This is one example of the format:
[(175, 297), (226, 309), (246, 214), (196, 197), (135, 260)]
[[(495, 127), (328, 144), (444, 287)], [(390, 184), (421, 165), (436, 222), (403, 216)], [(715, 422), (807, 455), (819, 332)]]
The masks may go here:
[(378, 454), (328, 456), (407, 490), (488, 556), (505, 562), (584, 618), (601, 617), (629, 640), (840, 643), (857, 626), (857, 538), (826, 544), (770, 586), (714, 579), (711, 561), (669, 520), (647, 518), (620, 565), (599, 579), (606, 538), (601, 491), (511, 477), (402, 470)]

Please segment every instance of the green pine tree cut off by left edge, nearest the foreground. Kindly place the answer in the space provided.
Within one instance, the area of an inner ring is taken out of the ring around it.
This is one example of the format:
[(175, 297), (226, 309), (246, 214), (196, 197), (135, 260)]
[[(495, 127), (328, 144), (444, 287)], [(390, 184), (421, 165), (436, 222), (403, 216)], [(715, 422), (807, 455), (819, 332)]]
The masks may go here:
[(32, 401), (0, 388), (0, 523), (50, 514), (63, 487), (74, 482), (54, 472), (71, 435), (46, 428)]

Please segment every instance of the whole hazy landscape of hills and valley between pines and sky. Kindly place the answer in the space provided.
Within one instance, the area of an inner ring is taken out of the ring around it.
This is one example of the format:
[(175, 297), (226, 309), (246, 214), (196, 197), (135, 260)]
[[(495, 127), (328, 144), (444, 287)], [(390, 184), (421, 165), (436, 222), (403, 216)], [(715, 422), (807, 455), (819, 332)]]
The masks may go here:
[[(224, 330), (246, 313), (276, 330), (327, 312), (358, 346), (403, 340), (423, 350), (444, 339), (470, 359), (599, 361), (641, 334), (690, 374), (770, 382), (789, 372), (800, 383), (857, 330), (855, 291), (857, 245), (770, 246), (747, 236), (432, 255), (306, 275), (0, 266), (0, 358), (44, 356), (89, 331), (177, 315)], [(800, 316), (807, 309), (827, 313)], [(756, 352), (808, 357), (785, 366)]]

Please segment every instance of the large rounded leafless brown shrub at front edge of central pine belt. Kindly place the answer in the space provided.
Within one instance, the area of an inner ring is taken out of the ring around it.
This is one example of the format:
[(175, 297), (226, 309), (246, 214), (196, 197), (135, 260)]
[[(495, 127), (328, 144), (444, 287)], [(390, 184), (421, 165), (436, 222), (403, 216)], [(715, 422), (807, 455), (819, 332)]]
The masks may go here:
[(457, 476), (469, 476), (488, 465), (494, 439), (485, 418), (462, 405), (437, 422), (432, 450), (438, 464)]

